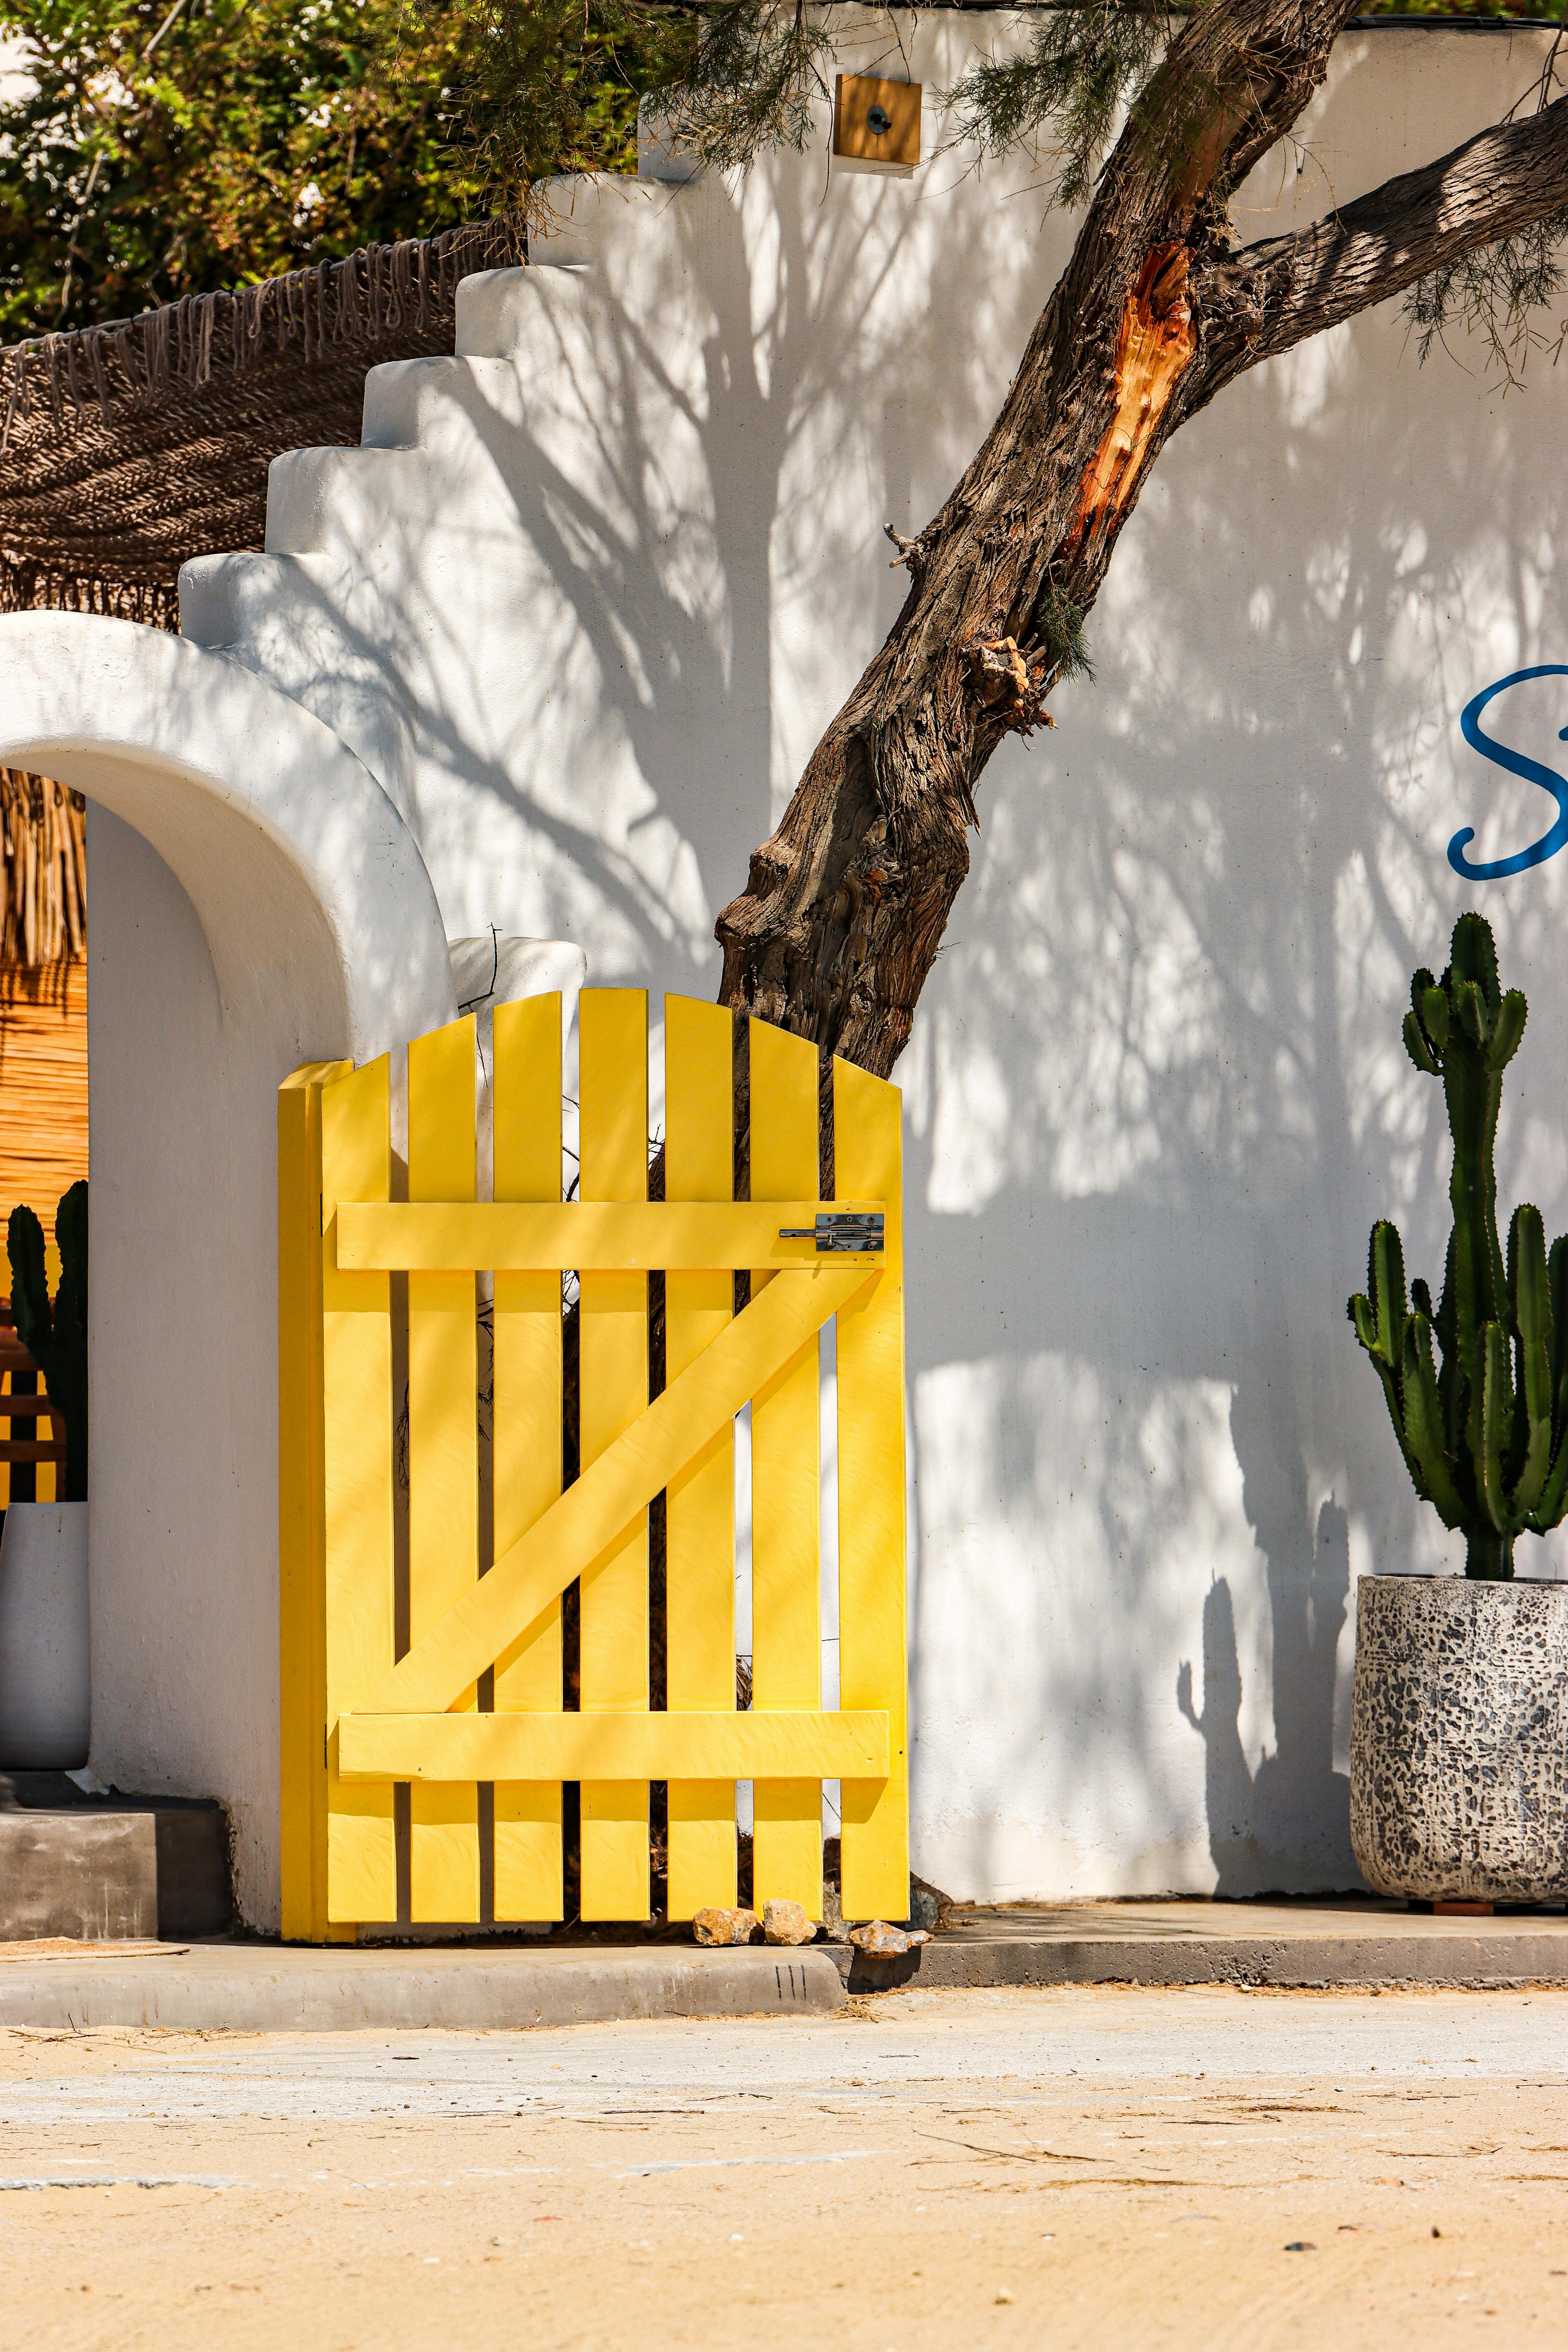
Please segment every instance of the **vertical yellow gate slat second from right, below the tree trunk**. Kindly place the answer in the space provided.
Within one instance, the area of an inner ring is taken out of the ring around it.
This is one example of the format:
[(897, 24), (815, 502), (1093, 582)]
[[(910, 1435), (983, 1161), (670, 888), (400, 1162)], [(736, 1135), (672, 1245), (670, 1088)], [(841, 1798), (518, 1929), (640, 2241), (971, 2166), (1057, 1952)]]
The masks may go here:
[[(752, 1021), (750, 1056), (752, 1200), (802, 1200), (818, 1188), (816, 1047)], [(755, 1268), (752, 1294), (766, 1282)], [(816, 1359), (813, 1334), (752, 1399), (752, 1708), (823, 1700)], [(823, 1917), (820, 1778), (755, 1783), (752, 1889)]]

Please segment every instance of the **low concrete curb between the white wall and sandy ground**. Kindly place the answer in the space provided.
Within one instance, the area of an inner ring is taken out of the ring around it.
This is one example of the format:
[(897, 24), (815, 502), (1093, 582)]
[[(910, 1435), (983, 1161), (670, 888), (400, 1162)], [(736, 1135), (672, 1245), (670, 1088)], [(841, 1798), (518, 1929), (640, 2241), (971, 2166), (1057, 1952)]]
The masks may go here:
[(849, 1994), (1051, 1985), (1382, 1990), (1568, 1985), (1568, 1917), (1460, 1919), (1392, 1903), (1095, 1903), (969, 1910), (903, 1959), (846, 1943), (148, 1943), (0, 1962), (0, 2027), (374, 2032), (823, 2016)]

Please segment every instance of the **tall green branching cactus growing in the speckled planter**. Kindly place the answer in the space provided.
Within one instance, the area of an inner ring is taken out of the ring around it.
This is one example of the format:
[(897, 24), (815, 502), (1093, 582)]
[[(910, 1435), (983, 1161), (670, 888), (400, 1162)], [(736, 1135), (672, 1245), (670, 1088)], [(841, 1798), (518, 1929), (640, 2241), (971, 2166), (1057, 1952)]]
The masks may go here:
[[(1443, 1080), (1453, 1131), (1453, 1232), (1436, 1315), (1410, 1284), (1399, 1230), (1373, 1225), (1368, 1294), (1349, 1301), (1378, 1367), (1415, 1491), (1465, 1531), (1465, 1573), (1514, 1573), (1514, 1536), (1544, 1536), (1568, 1512), (1568, 1240), (1540, 1209), (1514, 1209), (1497, 1242), (1497, 1105), (1526, 1023), (1519, 988), (1497, 988), (1497, 948), (1481, 915), (1460, 915), (1441, 981), (1410, 981), (1406, 1051)], [(1432, 1364), (1432, 1334), (1443, 1369)]]

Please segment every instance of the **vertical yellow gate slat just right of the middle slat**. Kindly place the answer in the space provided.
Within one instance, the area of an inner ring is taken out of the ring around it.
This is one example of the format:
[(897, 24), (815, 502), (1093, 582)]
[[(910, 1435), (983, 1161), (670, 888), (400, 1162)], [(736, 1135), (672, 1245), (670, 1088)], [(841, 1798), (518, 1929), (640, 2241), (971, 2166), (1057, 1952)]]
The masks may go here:
[[(733, 1016), (665, 997), (665, 1200), (726, 1202), (736, 1188)], [(795, 1244), (799, 1247), (799, 1244)], [(712, 1268), (712, 1261), (710, 1261)], [(733, 1312), (729, 1268), (665, 1275), (665, 1378)], [(670, 1710), (736, 1712), (736, 1432), (665, 1489), (665, 1677)], [(675, 1773), (675, 1764), (665, 1764)], [(736, 1783), (670, 1778), (670, 1919), (736, 1900)]]

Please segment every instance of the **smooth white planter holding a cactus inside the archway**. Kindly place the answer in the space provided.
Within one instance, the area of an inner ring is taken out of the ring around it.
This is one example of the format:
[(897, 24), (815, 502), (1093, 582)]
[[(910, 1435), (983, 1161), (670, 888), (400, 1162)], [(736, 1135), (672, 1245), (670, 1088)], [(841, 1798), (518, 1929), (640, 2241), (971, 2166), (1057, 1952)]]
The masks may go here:
[(87, 1762), (87, 1505), (12, 1503), (0, 1536), (0, 1771)]

